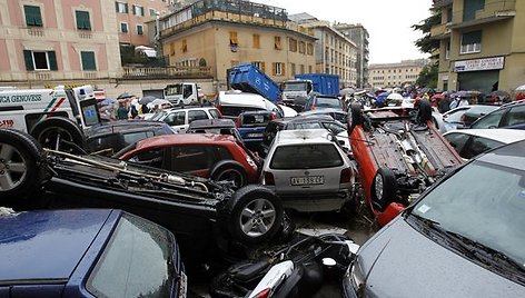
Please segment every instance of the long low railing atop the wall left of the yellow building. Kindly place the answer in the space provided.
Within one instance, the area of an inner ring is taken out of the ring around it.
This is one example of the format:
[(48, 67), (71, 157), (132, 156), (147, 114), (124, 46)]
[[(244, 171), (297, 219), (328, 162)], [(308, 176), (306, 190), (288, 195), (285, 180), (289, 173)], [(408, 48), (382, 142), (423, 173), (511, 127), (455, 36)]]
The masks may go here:
[(123, 67), (122, 78), (211, 78), (211, 67)]

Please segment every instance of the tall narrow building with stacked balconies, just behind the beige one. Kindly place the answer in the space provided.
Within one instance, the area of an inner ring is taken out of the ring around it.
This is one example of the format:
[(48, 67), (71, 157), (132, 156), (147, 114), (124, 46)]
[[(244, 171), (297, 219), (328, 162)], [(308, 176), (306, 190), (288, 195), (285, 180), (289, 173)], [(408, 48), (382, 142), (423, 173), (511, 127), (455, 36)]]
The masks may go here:
[(367, 88), (368, 86), (368, 61), (369, 61), (369, 48), (368, 39), (369, 34), (366, 28), (358, 24), (336, 23), (334, 28), (341, 32), (345, 37), (351, 40), (357, 47), (356, 57), (356, 71), (357, 71), (357, 88)]

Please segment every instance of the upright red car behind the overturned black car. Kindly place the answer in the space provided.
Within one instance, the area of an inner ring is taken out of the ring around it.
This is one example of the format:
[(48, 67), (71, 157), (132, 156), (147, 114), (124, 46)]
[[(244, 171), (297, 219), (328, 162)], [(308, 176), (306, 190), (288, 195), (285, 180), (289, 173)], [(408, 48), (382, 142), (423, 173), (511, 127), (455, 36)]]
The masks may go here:
[(113, 157), (217, 181), (228, 180), (235, 188), (258, 181), (258, 159), (228, 135), (159, 136), (138, 141)]

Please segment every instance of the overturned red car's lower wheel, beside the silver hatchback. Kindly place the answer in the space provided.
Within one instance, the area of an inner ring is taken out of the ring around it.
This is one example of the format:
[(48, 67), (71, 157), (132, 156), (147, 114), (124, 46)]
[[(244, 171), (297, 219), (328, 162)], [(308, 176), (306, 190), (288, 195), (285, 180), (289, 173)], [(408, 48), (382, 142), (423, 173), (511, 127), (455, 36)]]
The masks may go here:
[(380, 211), (394, 201), (397, 192), (396, 176), (388, 168), (379, 168), (372, 182), (372, 202)]

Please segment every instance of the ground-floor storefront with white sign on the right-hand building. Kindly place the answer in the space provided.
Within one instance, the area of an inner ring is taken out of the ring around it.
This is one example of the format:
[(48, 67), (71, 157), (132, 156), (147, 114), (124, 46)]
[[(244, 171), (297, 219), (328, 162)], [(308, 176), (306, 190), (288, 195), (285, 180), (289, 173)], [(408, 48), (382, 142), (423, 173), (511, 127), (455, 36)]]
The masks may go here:
[(497, 90), (499, 70), (504, 66), (505, 57), (456, 61), (454, 72), (457, 72), (457, 90), (478, 90), (484, 93)]

